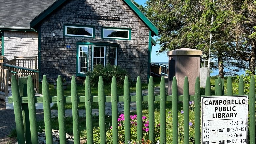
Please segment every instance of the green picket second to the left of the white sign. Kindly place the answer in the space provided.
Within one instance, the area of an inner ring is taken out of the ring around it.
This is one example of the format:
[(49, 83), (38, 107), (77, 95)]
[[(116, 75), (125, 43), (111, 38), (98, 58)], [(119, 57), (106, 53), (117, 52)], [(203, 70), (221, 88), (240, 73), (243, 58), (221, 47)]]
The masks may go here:
[(185, 77), (183, 87), (184, 143), (189, 144), (189, 84), (187, 76)]

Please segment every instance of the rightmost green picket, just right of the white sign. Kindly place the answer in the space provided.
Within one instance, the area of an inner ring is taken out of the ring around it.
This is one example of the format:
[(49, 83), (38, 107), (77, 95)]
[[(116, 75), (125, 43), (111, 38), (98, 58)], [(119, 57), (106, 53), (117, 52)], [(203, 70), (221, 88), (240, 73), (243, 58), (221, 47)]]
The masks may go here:
[(249, 92), (249, 114), (250, 114), (250, 144), (255, 144), (255, 79), (251, 76)]

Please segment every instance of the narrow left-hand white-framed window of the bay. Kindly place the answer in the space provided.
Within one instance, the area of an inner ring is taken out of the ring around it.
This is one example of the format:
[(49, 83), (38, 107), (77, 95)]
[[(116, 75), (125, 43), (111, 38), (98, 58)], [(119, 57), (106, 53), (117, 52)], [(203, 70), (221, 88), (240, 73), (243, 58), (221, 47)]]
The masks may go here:
[(78, 46), (78, 73), (84, 74), (88, 69), (88, 46)]

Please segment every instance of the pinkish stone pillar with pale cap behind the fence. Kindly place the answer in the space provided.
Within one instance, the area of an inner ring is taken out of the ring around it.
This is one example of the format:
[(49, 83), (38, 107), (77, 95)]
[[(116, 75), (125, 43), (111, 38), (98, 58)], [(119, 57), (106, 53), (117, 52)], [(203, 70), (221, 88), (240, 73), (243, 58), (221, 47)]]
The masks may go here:
[(181, 48), (168, 51), (169, 56), (169, 79), (168, 95), (172, 95), (172, 79), (176, 76), (178, 84), (178, 95), (183, 95), (183, 85), (185, 76), (189, 81), (189, 95), (195, 95), (196, 77), (200, 76), (200, 57), (202, 51)]

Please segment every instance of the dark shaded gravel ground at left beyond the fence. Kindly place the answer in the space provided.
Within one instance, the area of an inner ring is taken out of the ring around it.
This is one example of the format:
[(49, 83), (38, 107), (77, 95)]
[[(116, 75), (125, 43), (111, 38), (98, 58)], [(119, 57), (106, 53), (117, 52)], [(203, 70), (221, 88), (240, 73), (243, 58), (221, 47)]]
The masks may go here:
[[(43, 110), (36, 110), (36, 119), (43, 120)], [(15, 137), (9, 138), (7, 135), (15, 129), (14, 110), (5, 109), (5, 101), (0, 99), (0, 143), (15, 144)]]

